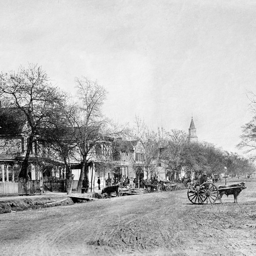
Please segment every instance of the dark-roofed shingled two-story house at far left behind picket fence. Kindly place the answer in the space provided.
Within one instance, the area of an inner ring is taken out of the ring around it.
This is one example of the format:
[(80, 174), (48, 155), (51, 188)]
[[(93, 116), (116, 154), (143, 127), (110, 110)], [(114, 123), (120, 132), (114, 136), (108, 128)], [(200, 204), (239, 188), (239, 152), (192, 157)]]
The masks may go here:
[[(29, 133), (25, 120), (23, 112), (16, 108), (0, 109), (0, 182), (14, 181), (19, 175), (27, 150)], [(44, 159), (39, 157), (37, 143), (33, 143), (29, 157), (31, 179), (39, 179), (43, 172), (46, 175), (52, 168), (49, 166), (55, 166), (54, 172), (59, 175), (60, 168), (56, 167), (58, 165), (61, 166), (61, 162), (56, 162), (50, 157)]]

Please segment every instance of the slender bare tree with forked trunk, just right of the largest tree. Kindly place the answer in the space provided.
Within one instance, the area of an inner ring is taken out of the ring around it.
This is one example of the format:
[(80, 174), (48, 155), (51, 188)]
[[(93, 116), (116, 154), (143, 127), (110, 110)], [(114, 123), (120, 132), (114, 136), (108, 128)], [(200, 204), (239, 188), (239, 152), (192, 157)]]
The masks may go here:
[(97, 82), (86, 77), (76, 78), (78, 112), (75, 121), (78, 143), (81, 156), (81, 173), (78, 181), (78, 192), (81, 190), (83, 178), (88, 177), (89, 165), (95, 162), (96, 145), (104, 142), (109, 137), (120, 136), (124, 129), (113, 124), (111, 120), (102, 114), (102, 106), (106, 99), (107, 91)]

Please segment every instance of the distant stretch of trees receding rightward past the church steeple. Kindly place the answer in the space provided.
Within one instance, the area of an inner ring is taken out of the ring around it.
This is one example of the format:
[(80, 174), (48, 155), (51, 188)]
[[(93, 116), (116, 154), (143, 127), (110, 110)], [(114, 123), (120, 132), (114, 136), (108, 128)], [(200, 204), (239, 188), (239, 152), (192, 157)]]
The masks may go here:
[(255, 172), (251, 159), (237, 153), (223, 151), (216, 145), (208, 142), (188, 142), (188, 135), (181, 130), (166, 131), (163, 127), (158, 131), (150, 131), (147, 125), (136, 117), (137, 138), (145, 145), (146, 173), (157, 176), (157, 168), (152, 169), (153, 159), (162, 162), (166, 169), (166, 176), (172, 180), (178, 179), (183, 170), (187, 177), (192, 172), (195, 175), (209, 176), (227, 173), (232, 177), (240, 174)]

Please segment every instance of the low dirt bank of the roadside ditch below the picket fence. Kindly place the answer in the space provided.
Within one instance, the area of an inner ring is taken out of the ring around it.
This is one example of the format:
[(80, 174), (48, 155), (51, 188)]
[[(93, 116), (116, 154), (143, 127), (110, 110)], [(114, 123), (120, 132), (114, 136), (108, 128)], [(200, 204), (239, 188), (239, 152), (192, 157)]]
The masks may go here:
[(73, 201), (68, 197), (29, 197), (16, 198), (11, 200), (0, 201), (0, 214), (7, 212), (32, 210), (39, 208), (47, 208), (59, 205), (71, 205)]

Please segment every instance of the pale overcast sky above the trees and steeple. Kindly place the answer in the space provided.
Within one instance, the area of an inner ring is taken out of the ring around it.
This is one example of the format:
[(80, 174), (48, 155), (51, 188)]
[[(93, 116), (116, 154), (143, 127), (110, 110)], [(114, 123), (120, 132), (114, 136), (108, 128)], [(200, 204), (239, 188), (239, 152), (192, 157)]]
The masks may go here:
[(0, 71), (38, 63), (56, 86), (109, 91), (120, 123), (188, 132), (239, 152), (256, 93), (256, 1), (0, 0)]

